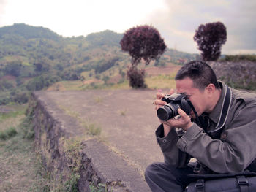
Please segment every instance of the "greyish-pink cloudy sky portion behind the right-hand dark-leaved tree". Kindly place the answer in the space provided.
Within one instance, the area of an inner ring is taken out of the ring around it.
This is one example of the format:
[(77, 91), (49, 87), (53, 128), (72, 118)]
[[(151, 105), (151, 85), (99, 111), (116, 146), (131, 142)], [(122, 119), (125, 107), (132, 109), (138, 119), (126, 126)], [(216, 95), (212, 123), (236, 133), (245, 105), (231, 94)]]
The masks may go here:
[(193, 40), (195, 30), (200, 24), (221, 21), (227, 28), (223, 53), (256, 53), (256, 1), (166, 0), (165, 6), (164, 11), (154, 12), (146, 22), (159, 29), (169, 47), (199, 53)]

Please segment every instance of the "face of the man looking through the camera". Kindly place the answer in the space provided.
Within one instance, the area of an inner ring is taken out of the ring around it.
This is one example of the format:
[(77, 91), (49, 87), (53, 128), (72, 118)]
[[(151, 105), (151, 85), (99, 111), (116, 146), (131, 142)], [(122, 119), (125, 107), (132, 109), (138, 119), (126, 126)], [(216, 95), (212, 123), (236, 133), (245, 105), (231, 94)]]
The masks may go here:
[[(192, 102), (197, 115), (200, 116), (207, 110), (207, 97), (206, 91), (200, 91), (198, 88), (194, 88), (192, 80), (187, 77), (184, 80), (176, 80), (176, 91), (177, 93), (184, 93), (188, 99)], [(191, 117), (195, 118), (195, 114), (192, 111)]]

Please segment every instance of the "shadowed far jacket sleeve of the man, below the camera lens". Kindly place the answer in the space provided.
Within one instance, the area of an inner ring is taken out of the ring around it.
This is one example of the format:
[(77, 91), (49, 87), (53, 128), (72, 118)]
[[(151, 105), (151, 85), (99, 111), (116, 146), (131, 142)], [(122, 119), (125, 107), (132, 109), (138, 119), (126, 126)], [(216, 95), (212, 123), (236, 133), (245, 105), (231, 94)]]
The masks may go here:
[(178, 149), (176, 144), (179, 137), (175, 128), (172, 128), (166, 137), (163, 137), (163, 133), (164, 128), (161, 124), (157, 128), (156, 136), (157, 142), (164, 155), (165, 163), (176, 166), (177, 168), (186, 167), (191, 157), (187, 153)]

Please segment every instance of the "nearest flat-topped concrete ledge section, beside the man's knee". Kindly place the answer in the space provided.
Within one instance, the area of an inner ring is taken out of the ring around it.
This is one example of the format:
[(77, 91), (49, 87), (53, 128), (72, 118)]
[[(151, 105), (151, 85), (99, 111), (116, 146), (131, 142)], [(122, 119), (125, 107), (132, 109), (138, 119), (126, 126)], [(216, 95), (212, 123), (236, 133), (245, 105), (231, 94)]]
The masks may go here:
[[(83, 142), (83, 146), (83, 161), (91, 161), (90, 166), (97, 177), (102, 183), (112, 186), (113, 191), (149, 191), (138, 170), (97, 139)], [(91, 169), (88, 164), (83, 164), (83, 167), (85, 171)]]

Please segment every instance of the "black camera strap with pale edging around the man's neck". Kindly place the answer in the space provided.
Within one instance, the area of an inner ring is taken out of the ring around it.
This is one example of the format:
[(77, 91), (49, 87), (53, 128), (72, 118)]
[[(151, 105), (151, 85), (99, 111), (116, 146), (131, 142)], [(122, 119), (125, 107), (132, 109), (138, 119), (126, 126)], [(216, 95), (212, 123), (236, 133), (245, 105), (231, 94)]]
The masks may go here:
[[(231, 92), (230, 88), (227, 85), (225, 85), (225, 83), (223, 83), (222, 86), (223, 86), (222, 90), (224, 91), (225, 96), (224, 96), (224, 99), (222, 101), (222, 110), (221, 110), (220, 115), (219, 115), (219, 120), (218, 120), (217, 126), (212, 131), (207, 131), (207, 134), (212, 139), (219, 139), (220, 138), (220, 135), (222, 134), (222, 130), (223, 130), (223, 128), (225, 126), (225, 123), (226, 123), (226, 120), (227, 120), (228, 112), (230, 110), (232, 92)], [(203, 122), (203, 118), (198, 117), (197, 112), (195, 110), (195, 107), (193, 106), (191, 101), (189, 101), (189, 99), (187, 99), (187, 101), (188, 101), (190, 107), (192, 108), (193, 112), (195, 113), (196, 120), (200, 122), (200, 125), (206, 131), (206, 123)]]

